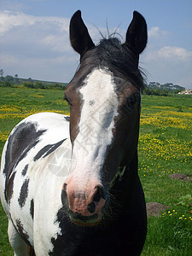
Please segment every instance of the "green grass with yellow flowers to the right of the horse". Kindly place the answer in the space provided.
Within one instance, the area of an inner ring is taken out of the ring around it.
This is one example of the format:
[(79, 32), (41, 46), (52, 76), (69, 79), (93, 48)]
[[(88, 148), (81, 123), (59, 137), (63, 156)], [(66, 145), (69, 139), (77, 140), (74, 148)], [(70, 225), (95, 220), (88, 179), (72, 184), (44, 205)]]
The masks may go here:
[[(180, 108), (178, 108), (178, 106)], [(179, 110), (179, 111), (178, 111)], [(148, 218), (142, 255), (192, 255), (192, 183), (169, 175), (192, 175), (192, 105), (185, 96), (143, 96), (139, 138), (139, 174), (146, 201), (169, 206), (163, 215)]]

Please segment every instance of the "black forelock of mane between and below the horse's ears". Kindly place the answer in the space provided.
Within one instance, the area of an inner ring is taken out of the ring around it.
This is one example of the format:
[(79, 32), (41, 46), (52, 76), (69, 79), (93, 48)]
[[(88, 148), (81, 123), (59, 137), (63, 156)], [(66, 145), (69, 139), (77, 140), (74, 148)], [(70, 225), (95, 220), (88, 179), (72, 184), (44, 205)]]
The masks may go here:
[[(128, 45), (121, 44), (118, 38), (102, 38), (100, 44), (91, 50), (91, 62), (115, 76), (129, 80), (138, 89), (143, 90), (144, 73), (138, 67), (138, 55)], [(86, 57), (85, 57), (86, 58)]]

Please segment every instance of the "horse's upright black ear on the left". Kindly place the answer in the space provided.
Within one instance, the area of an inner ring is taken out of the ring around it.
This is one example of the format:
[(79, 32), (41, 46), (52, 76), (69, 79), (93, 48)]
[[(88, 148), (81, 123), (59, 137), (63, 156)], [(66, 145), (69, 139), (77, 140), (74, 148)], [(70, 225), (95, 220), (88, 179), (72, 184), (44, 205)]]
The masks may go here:
[(81, 18), (81, 11), (77, 11), (70, 21), (70, 41), (74, 50), (79, 55), (83, 55), (85, 51), (95, 46), (87, 27), (84, 25), (84, 21)]

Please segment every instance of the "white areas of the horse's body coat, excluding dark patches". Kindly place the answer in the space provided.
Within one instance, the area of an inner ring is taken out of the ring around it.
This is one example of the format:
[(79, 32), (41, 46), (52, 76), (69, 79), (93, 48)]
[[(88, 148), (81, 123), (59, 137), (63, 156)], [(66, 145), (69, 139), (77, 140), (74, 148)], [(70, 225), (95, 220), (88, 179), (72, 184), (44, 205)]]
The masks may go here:
[[(51, 238), (61, 234), (59, 223), (56, 222), (56, 214), (62, 207), (61, 189), (69, 173), (69, 162), (71, 157), (71, 142), (69, 137), (69, 122), (59, 113), (37, 113), (22, 120), (20, 123), (31, 122), (36, 125), (37, 131), (46, 130), (39, 138), (39, 142), (31, 148), (26, 156), (20, 160), (15, 167), (14, 192), (10, 199), (10, 205), (4, 198), (5, 175), (3, 168), (7, 143), (3, 148), (2, 166), (0, 172), (0, 194), (3, 208), (7, 215), (9, 213), (16, 225), (19, 218), (29, 241), (35, 247), (37, 255), (48, 255), (53, 249)], [(18, 126), (18, 125), (17, 125)], [(15, 129), (11, 132), (13, 132)], [(64, 143), (46, 157), (34, 161), (34, 156), (49, 144), (58, 143), (66, 139)], [(22, 170), (28, 165), (26, 176), (23, 177)], [(20, 189), (26, 179), (29, 179), (28, 195), (23, 207), (20, 207), (18, 198)], [(30, 214), (31, 201), (34, 201), (34, 218)], [(16, 241), (15, 241), (16, 242)]]

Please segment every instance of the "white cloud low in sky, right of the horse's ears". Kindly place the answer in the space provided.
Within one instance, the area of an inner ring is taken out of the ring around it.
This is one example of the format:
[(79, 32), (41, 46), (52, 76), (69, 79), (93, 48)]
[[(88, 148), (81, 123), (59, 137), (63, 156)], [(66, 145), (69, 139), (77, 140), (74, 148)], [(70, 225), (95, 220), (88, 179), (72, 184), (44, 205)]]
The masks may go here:
[(143, 62), (148, 71), (148, 81), (167, 82), (192, 88), (192, 51), (180, 47), (165, 46), (158, 50), (148, 49)]

